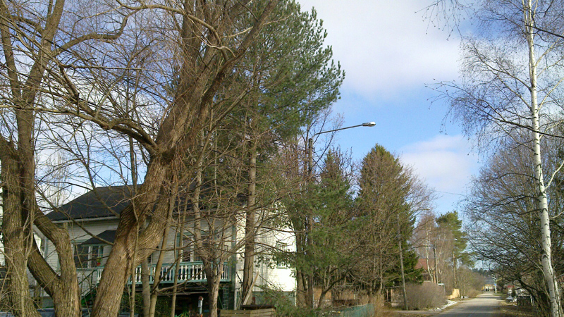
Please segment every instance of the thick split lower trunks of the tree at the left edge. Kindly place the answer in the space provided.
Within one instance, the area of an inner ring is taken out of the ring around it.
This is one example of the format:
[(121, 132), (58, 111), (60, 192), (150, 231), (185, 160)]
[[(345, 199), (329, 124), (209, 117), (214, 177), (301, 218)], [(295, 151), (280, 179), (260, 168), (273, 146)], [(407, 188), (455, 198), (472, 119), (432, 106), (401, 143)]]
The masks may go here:
[[(37, 314), (28, 289), (26, 267), (39, 285), (52, 297), (59, 316), (80, 316), (80, 294), (72, 245), (68, 232), (59, 228), (39, 210), (35, 199), (35, 161), (32, 141), (32, 111), (16, 111), (18, 150), (10, 142), (1, 142), (1, 174), (4, 182), (4, 244), (6, 269), (13, 306), (23, 316)], [(43, 259), (33, 237), (37, 225), (54, 243), (60, 256), (61, 273), (57, 275)]]

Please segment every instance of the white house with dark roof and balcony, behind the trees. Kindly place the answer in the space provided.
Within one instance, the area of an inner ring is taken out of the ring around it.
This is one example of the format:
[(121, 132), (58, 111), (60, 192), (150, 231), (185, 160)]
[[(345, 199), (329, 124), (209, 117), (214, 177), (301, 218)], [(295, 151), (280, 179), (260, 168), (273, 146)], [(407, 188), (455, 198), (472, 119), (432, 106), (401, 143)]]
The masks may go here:
[[(97, 187), (47, 215), (54, 223), (67, 228), (73, 241), (82, 304), (92, 302), (99, 278), (104, 270), (104, 264), (111, 250), (111, 242), (114, 241), (119, 213), (128, 206), (130, 197), (130, 187), (128, 186)], [(171, 228), (168, 238), (169, 251), (164, 254), (164, 265), (159, 273), (162, 286), (172, 285), (176, 278), (179, 285), (176, 303), (178, 312), (194, 310), (197, 307), (197, 297), (199, 296), (204, 297), (204, 300), (207, 299), (207, 290), (204, 287), (207, 280), (203, 271), (202, 259), (195, 254), (192, 246), (191, 228), (193, 228), (191, 225), (187, 225), (182, 230)], [(204, 225), (202, 230), (206, 232), (211, 228)], [(223, 263), (219, 308), (233, 309), (240, 304), (240, 284), (243, 280), (243, 250), (233, 252), (233, 247), (238, 243), (240, 244), (238, 239), (240, 240), (244, 235), (244, 230), (244, 223), (231, 225), (232, 233), (224, 240), (225, 245), (222, 246), (226, 252), (231, 253), (226, 256), (227, 261)], [(295, 249), (293, 235), (288, 232), (262, 230), (262, 234), (258, 235), (257, 240), (258, 244), (263, 246), (284, 248), (288, 251)], [(263, 287), (269, 287), (293, 293), (295, 291), (295, 278), (293, 278), (292, 270), (283, 263), (264, 261), (264, 259), (269, 259), (268, 249), (268, 247), (262, 247), (262, 250), (257, 250), (264, 251), (265, 256), (260, 258), (262, 261), (259, 261), (257, 257), (255, 272), (258, 273), (258, 278), (255, 282), (254, 292), (259, 295)], [(52, 268), (59, 269), (58, 258), (54, 253), (54, 246), (51, 242), (44, 243), (44, 256)], [(152, 274), (154, 274), (158, 257), (158, 250), (154, 251), (152, 256), (149, 256), (149, 271)], [(180, 257), (178, 268), (175, 265), (177, 257)], [(141, 283), (140, 273), (139, 267), (134, 279), (134, 282), (139, 284)], [(141, 287), (136, 287), (136, 289), (140, 292)], [(257, 296), (257, 300), (258, 298), (260, 296)]]

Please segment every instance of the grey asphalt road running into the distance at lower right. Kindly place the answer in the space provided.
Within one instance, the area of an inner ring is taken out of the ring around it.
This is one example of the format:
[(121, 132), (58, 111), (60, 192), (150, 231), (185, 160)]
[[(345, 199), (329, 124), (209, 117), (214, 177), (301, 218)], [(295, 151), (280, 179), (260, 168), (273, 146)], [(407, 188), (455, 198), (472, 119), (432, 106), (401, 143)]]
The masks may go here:
[(465, 300), (447, 311), (439, 313), (438, 317), (493, 317), (501, 298), (493, 293), (480, 294), (478, 297)]

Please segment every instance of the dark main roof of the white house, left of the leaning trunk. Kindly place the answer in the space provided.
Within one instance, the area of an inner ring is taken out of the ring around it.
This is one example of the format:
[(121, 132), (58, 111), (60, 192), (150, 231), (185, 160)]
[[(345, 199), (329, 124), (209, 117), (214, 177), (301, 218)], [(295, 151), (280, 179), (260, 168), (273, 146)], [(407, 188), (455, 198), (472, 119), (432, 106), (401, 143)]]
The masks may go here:
[(115, 217), (128, 206), (131, 189), (131, 186), (97, 187), (47, 213), (47, 217), (55, 221)]

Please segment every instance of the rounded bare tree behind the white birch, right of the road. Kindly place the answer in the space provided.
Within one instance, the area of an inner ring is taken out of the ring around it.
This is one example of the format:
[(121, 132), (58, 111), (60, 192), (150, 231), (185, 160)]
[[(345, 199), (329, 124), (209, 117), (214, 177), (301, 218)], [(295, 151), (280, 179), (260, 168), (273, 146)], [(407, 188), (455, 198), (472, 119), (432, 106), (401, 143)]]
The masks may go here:
[[(528, 139), (528, 137), (527, 137)], [(545, 139), (546, 142), (546, 139)], [(558, 168), (561, 142), (544, 144), (546, 170)], [(542, 273), (541, 231), (537, 218), (533, 158), (527, 149), (508, 146), (492, 156), (474, 180), (472, 196), (465, 204), (473, 225), (470, 226), (472, 250), (500, 278), (515, 281), (536, 299), (543, 315), (551, 312), (549, 294)], [(556, 179), (560, 179), (558, 173)], [(560, 180), (547, 191), (551, 210), (561, 213)], [(560, 275), (563, 266), (560, 216), (551, 219), (554, 230), (554, 267)], [(492, 237), (496, 237), (492, 239)]]

